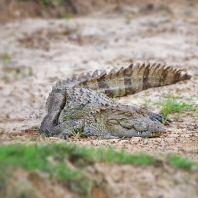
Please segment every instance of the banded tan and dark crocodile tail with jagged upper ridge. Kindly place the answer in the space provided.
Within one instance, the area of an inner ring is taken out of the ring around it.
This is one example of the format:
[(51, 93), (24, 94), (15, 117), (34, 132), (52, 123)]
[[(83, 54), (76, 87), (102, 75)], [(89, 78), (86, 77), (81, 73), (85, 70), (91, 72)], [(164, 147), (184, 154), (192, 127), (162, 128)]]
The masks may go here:
[[(92, 75), (80, 76), (75, 81), (76, 87), (85, 87), (114, 98), (131, 95), (142, 90), (174, 84), (190, 79), (191, 76), (182, 70), (162, 64), (131, 64), (127, 68), (109, 73), (96, 70)], [(72, 81), (72, 80), (71, 80)]]

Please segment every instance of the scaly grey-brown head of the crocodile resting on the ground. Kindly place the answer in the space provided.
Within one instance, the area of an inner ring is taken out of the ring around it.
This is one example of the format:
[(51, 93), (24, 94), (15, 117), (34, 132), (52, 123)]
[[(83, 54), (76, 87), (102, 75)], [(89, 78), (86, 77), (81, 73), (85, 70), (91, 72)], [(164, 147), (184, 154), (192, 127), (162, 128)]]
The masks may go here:
[(152, 120), (145, 112), (132, 109), (107, 111), (107, 130), (118, 137), (158, 137), (166, 132), (157, 120)]

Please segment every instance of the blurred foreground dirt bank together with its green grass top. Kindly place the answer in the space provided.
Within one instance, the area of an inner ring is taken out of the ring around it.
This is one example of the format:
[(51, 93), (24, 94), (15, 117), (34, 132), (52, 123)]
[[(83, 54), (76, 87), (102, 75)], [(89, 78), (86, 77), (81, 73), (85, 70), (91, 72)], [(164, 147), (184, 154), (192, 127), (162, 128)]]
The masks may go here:
[(0, 197), (197, 197), (198, 164), (74, 144), (0, 147)]

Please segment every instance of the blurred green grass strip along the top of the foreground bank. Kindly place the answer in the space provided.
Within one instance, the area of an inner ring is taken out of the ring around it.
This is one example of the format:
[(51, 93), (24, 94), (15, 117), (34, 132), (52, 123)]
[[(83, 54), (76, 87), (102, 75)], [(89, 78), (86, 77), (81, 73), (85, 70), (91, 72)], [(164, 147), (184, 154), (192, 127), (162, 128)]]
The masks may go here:
[[(40, 169), (46, 172), (54, 170), (54, 165), (49, 161), (52, 158), (57, 162), (56, 169), (59, 171), (65, 159), (69, 159), (77, 167), (87, 162), (108, 162), (136, 165), (158, 165), (158, 159), (144, 154), (128, 154), (124, 150), (115, 151), (114, 149), (95, 149), (76, 146), (74, 144), (44, 144), (44, 145), (1, 145), (0, 162), (23, 167), (27, 170)], [(172, 159), (172, 158), (171, 158)], [(180, 157), (178, 157), (180, 159)], [(172, 163), (170, 163), (171, 165)], [(179, 166), (183, 168), (183, 166)], [(61, 172), (61, 171), (60, 171)], [(63, 173), (60, 174), (62, 176)], [(65, 173), (66, 174), (66, 173)], [(75, 175), (75, 173), (72, 173)], [(59, 174), (58, 174), (59, 175)], [(70, 178), (70, 175), (65, 175)], [(73, 176), (71, 176), (73, 177)]]

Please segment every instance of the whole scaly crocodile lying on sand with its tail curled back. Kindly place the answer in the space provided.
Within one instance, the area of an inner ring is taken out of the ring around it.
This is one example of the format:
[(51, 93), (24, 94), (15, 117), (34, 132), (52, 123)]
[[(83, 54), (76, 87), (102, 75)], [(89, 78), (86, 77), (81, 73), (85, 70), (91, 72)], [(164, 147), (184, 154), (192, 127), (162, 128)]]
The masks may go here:
[[(79, 131), (102, 138), (158, 137), (166, 132), (164, 117), (113, 98), (188, 80), (191, 76), (160, 63), (132, 63), (109, 73), (96, 70), (57, 82), (48, 96), (40, 132), (67, 139)], [(165, 120), (168, 124), (170, 120)], [(163, 124), (162, 124), (163, 123)]]

